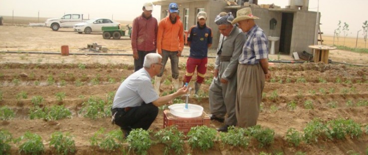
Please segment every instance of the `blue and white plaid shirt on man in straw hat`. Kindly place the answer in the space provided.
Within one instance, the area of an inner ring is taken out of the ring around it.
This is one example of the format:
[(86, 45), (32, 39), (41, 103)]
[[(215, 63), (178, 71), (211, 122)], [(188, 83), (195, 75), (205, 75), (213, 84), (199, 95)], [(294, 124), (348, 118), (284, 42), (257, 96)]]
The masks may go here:
[(240, 54), (239, 64), (259, 64), (259, 59), (268, 58), (268, 40), (263, 30), (258, 25), (254, 25), (246, 35), (248, 39)]

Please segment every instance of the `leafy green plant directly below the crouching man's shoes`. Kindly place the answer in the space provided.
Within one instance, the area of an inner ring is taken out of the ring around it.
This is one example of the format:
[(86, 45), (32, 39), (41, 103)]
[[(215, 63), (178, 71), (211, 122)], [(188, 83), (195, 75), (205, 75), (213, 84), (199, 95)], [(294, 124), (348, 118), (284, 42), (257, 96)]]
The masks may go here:
[(147, 155), (147, 150), (151, 148), (150, 131), (143, 129), (133, 129), (127, 137), (130, 149), (140, 155)]

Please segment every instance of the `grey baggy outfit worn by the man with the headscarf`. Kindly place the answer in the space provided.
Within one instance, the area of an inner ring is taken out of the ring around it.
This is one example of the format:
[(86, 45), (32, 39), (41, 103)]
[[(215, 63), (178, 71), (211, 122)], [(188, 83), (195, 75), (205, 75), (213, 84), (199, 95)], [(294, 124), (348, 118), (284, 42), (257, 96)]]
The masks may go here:
[[(236, 126), (235, 116), (235, 95), (236, 95), (236, 70), (238, 58), (243, 51), (246, 40), (245, 34), (237, 26), (231, 30), (230, 35), (224, 37), (220, 35), (217, 51), (221, 49), (221, 56), (231, 56), (230, 61), (220, 61), (220, 55), (216, 56), (215, 69), (219, 69), (217, 77), (213, 77), (209, 86), (209, 109), (212, 115), (217, 118), (224, 118), (225, 124)], [(221, 83), (221, 78), (228, 81), (227, 84)]]

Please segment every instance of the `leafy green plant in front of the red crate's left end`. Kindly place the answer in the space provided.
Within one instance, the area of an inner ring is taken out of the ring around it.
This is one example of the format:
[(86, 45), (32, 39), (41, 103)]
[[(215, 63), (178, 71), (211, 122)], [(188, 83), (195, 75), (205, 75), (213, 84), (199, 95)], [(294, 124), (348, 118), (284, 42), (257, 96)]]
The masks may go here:
[(174, 150), (176, 155), (184, 153), (184, 134), (176, 126), (160, 130), (155, 134), (155, 138), (165, 145), (164, 155), (170, 155), (171, 150)]

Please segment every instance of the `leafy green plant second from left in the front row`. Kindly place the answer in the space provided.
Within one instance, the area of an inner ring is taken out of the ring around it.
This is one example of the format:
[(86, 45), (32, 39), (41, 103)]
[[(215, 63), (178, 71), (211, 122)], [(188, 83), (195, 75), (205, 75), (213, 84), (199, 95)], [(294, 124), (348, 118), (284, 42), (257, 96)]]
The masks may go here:
[(26, 132), (18, 139), (18, 142), (25, 141), (19, 146), (19, 154), (40, 155), (44, 152), (41, 136)]

